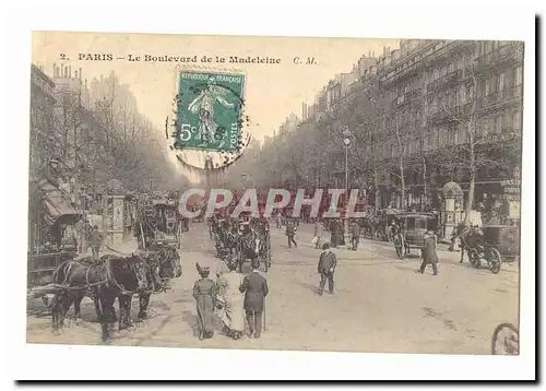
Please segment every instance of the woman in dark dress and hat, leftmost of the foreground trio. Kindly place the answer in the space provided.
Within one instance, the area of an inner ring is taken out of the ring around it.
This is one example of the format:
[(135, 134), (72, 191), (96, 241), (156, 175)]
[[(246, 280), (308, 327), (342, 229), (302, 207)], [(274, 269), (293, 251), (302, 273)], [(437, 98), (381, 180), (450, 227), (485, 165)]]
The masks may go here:
[(193, 298), (198, 309), (199, 339), (211, 339), (214, 335), (214, 301), (216, 299), (216, 285), (209, 279), (210, 266), (198, 264), (201, 280), (193, 285)]

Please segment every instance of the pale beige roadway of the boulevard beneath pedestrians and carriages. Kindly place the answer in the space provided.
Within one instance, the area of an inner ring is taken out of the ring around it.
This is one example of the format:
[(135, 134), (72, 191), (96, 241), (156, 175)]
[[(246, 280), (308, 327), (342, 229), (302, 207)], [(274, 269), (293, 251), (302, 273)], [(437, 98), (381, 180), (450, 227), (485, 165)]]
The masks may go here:
[[(459, 253), (438, 251), (438, 276), (416, 274), (420, 260), (396, 260), (392, 246), (363, 240), (358, 251), (336, 249), (335, 294), (320, 297), (319, 250), (310, 244), (312, 227), (301, 225), (297, 248), (288, 249), (284, 230), (272, 228), (273, 265), (266, 274), (266, 330), (259, 340), (233, 341), (219, 333), (197, 339), (195, 305), (191, 288), (195, 262), (213, 265), (214, 242), (204, 224), (193, 224), (182, 246), (181, 279), (173, 291), (152, 297), (150, 319), (130, 331), (114, 333), (114, 345), (266, 348), (300, 351), (488, 354), (500, 322), (518, 324), (517, 264), (505, 263), (500, 274), (459, 263)], [(214, 266), (213, 266), (214, 268)], [(248, 265), (247, 265), (248, 268)], [(248, 270), (246, 270), (248, 272)], [(211, 276), (215, 275), (211, 270)], [(61, 335), (51, 333), (49, 315), (40, 300), (28, 305), (31, 343), (99, 344), (94, 306), (82, 303), (83, 321), (68, 320)], [(133, 300), (135, 319), (138, 300)], [(69, 318), (72, 310), (69, 311)], [(218, 330), (221, 324), (218, 322)]]

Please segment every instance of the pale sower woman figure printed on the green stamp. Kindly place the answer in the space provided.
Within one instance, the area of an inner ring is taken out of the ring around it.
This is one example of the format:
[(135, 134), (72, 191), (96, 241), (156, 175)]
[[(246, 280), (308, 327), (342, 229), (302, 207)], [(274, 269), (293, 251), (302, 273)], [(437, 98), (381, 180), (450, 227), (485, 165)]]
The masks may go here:
[[(227, 100), (225, 94), (226, 90), (216, 85), (216, 80), (211, 76), (207, 80), (206, 87), (188, 106), (190, 112), (198, 114), (198, 134), (202, 141), (200, 146), (205, 146), (215, 141), (214, 135), (218, 130), (218, 125), (214, 121), (214, 105), (216, 102), (227, 108), (234, 107), (234, 104)], [(223, 134), (219, 146), (222, 147), (225, 143)]]

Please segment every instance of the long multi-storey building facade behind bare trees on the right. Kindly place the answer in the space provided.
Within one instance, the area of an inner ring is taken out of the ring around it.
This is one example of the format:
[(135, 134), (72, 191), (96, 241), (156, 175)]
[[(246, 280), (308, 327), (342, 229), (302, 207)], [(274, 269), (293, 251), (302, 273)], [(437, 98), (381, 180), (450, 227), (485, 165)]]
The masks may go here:
[[(522, 44), (405, 39), (351, 74), (353, 83), (337, 75), (302, 106), (299, 127), (352, 131), (351, 186), (366, 188), (370, 203), (439, 208), (442, 186), (454, 180), (467, 192), (473, 171), (474, 204), (515, 216), (518, 197), (505, 188), (521, 164)], [(341, 142), (337, 150), (318, 182), (344, 181)]]

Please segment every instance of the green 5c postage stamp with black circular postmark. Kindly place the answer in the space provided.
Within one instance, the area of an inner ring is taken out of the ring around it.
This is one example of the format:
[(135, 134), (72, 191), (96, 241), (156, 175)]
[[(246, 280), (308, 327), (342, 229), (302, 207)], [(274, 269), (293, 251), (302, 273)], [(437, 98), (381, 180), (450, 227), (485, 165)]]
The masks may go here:
[(242, 73), (180, 71), (175, 147), (237, 151), (245, 81)]

